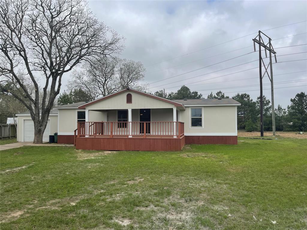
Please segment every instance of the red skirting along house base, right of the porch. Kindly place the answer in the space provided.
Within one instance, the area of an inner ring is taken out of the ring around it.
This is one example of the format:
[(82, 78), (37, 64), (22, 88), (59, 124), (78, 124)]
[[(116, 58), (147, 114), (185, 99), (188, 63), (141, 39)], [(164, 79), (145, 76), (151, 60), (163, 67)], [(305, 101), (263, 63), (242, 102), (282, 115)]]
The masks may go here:
[(185, 136), (185, 143), (237, 145), (238, 136)]

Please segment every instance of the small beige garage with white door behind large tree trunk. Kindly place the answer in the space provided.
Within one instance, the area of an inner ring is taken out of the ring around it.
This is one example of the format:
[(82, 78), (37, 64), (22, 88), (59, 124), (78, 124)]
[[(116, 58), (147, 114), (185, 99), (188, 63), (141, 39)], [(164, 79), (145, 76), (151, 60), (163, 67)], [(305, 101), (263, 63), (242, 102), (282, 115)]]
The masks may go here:
[[(17, 116), (17, 141), (33, 142), (34, 140), (34, 123), (29, 112), (16, 114)], [(51, 110), (48, 123), (44, 132), (43, 141), (49, 141), (49, 135), (58, 131), (58, 111)]]

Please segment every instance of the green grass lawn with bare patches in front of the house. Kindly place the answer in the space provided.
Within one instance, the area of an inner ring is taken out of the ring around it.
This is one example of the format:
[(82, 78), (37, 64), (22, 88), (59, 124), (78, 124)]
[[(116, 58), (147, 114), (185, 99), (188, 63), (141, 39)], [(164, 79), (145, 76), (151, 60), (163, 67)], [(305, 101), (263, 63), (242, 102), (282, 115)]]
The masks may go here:
[(306, 229), (307, 140), (1, 151), (1, 229)]

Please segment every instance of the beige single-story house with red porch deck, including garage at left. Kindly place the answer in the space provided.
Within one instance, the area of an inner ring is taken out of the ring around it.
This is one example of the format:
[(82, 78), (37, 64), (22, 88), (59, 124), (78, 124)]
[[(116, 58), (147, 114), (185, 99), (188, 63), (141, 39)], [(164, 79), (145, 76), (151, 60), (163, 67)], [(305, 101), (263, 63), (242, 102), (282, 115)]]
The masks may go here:
[[(127, 88), (55, 107), (44, 141), (57, 131), (58, 143), (87, 150), (174, 151), (185, 144), (237, 144), (239, 105), (231, 98), (169, 100)], [(29, 115), (17, 117), (18, 141), (33, 140)]]

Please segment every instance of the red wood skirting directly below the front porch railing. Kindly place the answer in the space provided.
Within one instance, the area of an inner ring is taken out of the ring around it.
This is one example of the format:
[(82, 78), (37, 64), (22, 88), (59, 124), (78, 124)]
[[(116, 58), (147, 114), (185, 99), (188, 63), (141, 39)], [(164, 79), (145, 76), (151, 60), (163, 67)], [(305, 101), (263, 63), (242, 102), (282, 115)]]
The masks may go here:
[(127, 151), (180, 151), (182, 138), (76, 138), (76, 149)]

